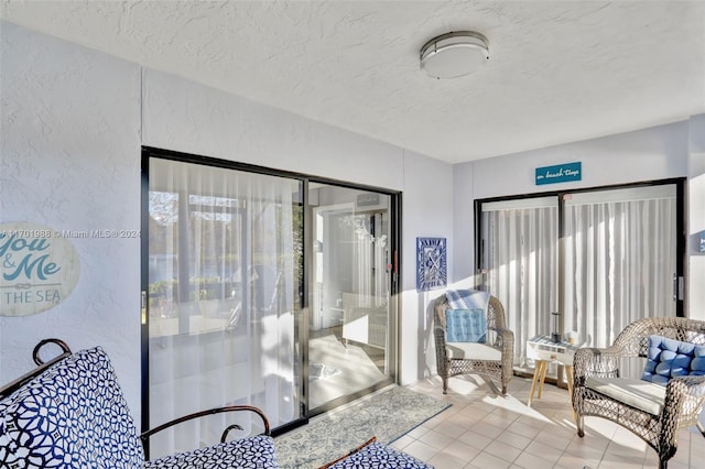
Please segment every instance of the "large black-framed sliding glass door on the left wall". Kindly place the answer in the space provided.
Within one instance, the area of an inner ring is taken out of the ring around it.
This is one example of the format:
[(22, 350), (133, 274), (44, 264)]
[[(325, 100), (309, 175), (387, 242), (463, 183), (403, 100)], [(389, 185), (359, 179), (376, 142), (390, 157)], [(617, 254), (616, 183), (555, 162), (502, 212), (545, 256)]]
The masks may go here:
[[(394, 381), (397, 194), (154, 149), (143, 165), (144, 429), (249, 404), (278, 433)], [(150, 457), (230, 423), (161, 432)]]

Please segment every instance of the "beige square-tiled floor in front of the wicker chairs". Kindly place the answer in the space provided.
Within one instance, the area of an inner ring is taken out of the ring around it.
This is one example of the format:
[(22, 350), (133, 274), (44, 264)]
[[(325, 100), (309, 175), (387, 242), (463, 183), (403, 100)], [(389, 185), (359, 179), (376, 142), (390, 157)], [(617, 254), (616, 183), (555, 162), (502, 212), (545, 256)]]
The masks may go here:
[[(652, 468), (654, 461), (658, 463), (658, 457), (651, 447), (642, 444), (641, 439), (634, 435), (621, 429), (618, 425), (604, 418), (586, 417), (586, 435), (583, 438), (579, 438), (576, 434), (575, 423), (572, 422), (567, 391), (564, 389), (546, 384), (543, 390), (542, 399), (534, 399), (532, 407), (528, 407), (525, 402), (530, 384), (530, 379), (516, 377), (509, 384), (509, 396), (507, 399), (498, 397), (492, 393), (489, 386), (482, 383), (482, 380), (479, 377), (474, 375), (451, 379), (451, 386), (447, 395), (442, 394), (440, 379), (420, 381), (419, 383), (412, 384), (410, 388), (453, 403), (453, 412), (448, 414), (446, 418), (452, 419), (454, 424), (456, 422), (462, 422), (459, 417), (454, 418), (458, 415), (471, 416), (468, 417), (467, 425), (477, 425), (479, 422), (487, 418), (487, 421), (485, 421), (485, 430), (490, 429), (490, 427), (500, 426), (502, 422), (506, 422), (505, 425), (501, 425), (505, 430), (503, 433), (497, 434), (496, 430), (490, 430), (489, 435), (491, 436), (489, 436), (489, 443), (484, 445), (481, 449), (476, 448), (478, 449), (476, 454), (468, 456), (467, 460), (463, 460), (463, 463), (465, 465), (463, 466), (464, 468), (474, 468), (477, 463), (486, 461), (488, 457), (506, 461), (505, 457), (507, 457), (506, 452), (509, 451), (509, 448), (511, 448), (511, 452), (519, 449), (518, 456), (513, 457), (511, 461), (507, 461), (506, 466), (511, 467), (512, 469), (544, 469), (546, 465), (542, 465), (542, 461), (546, 461), (547, 459), (553, 460), (553, 462), (550, 462), (547, 467), (568, 469), (565, 465), (570, 463), (570, 468), (572, 469), (573, 467), (578, 467), (575, 466), (577, 462), (579, 463), (578, 469), (607, 469), (617, 467), (621, 459), (634, 461), (634, 456), (637, 456), (639, 462), (630, 463), (629, 467), (640, 467), (646, 469)], [(488, 404), (494, 408), (491, 408), (490, 412), (484, 413)], [(527, 418), (522, 418), (524, 416)], [(540, 424), (542, 418), (546, 419), (546, 423), (543, 425)], [(536, 422), (533, 422), (532, 419), (535, 419)], [(531, 436), (525, 435), (531, 432), (532, 427), (527, 424), (527, 422), (532, 425), (535, 424), (536, 427), (535, 432)], [(437, 425), (442, 426), (443, 422)], [(448, 423), (448, 425), (451, 424)], [(512, 432), (512, 426), (520, 429), (521, 433)], [(433, 428), (431, 428), (431, 430), (433, 430)], [(482, 434), (481, 425), (478, 428), (468, 426), (467, 430), (473, 430), (480, 435)], [(529, 443), (523, 449), (502, 443), (500, 438), (507, 432), (512, 433), (522, 439), (527, 438)], [(453, 440), (446, 443), (441, 449), (434, 450), (433, 455), (426, 455), (425, 458), (420, 459), (424, 459), (430, 463), (434, 458), (437, 460), (457, 461), (457, 456), (452, 455), (447, 449), (451, 448), (455, 441), (464, 443), (463, 435), (465, 434), (466, 432), (462, 432)], [(560, 438), (563, 434), (565, 434), (566, 437), (570, 436), (567, 443), (565, 438)], [(555, 435), (553, 437), (553, 441), (552, 435)], [(691, 445), (692, 437), (698, 435), (699, 434), (696, 435), (692, 433), (691, 435), (687, 435), (687, 437), (682, 438), (679, 451), (673, 459), (671, 459), (671, 466), (679, 468), (684, 467), (684, 463), (690, 465), (691, 461), (696, 461), (696, 463), (702, 462), (702, 457), (694, 457), (694, 448), (693, 445)], [(488, 436), (488, 434), (485, 436)], [(413, 455), (415, 446), (422, 444), (423, 439), (423, 434), (420, 434), (417, 438), (414, 435), (414, 437), (408, 438), (404, 441), (403, 447), (399, 449)], [(501, 446), (492, 445), (498, 440)], [(536, 451), (535, 448), (546, 449), (546, 452), (542, 455), (543, 458), (527, 451), (527, 449), (532, 445), (534, 445), (533, 452), (541, 452)], [(473, 445), (468, 446), (473, 447)], [(623, 447), (623, 457), (620, 456), (618, 451), (615, 451), (619, 446)], [(703, 441), (702, 447), (704, 448), (702, 451), (705, 452), (705, 440)], [(494, 454), (492, 448), (495, 449)], [(547, 448), (553, 448), (553, 450), (549, 451)], [(502, 450), (505, 450), (505, 455), (497, 454), (497, 451)], [(683, 454), (683, 451), (685, 451), (685, 454)], [(550, 458), (549, 452), (553, 455)], [(590, 454), (594, 454), (595, 456), (592, 457), (589, 456)], [(474, 463), (473, 461), (476, 462)], [(452, 468), (447, 469), (455, 469), (456, 467), (457, 466), (454, 465)], [(436, 466), (436, 469), (446, 468)]]

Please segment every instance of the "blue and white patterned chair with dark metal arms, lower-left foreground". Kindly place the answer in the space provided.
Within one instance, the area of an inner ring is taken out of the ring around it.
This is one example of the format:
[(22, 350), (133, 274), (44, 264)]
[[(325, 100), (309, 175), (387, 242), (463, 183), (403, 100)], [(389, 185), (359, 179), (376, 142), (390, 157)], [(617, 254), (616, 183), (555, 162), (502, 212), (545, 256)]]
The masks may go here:
[[(8, 389), (0, 392), (2, 468), (276, 467), (269, 423), (259, 410), (264, 435), (145, 461), (115, 370), (99, 347), (66, 353), (4, 395)], [(231, 406), (200, 414), (252, 408)]]

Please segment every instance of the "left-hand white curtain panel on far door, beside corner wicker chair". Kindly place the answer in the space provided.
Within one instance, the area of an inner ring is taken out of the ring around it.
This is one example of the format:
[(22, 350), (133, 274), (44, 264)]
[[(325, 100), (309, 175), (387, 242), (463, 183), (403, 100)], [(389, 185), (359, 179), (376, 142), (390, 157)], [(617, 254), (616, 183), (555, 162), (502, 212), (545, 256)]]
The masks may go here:
[(527, 340), (551, 334), (557, 308), (557, 199), (482, 204), (482, 227), (485, 282), (514, 332), (514, 363), (524, 366)]

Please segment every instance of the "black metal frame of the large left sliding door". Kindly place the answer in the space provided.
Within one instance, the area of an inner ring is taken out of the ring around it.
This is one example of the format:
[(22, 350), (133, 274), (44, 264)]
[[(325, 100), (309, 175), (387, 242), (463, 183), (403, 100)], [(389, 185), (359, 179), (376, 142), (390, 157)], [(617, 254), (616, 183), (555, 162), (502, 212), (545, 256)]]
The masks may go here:
[[(300, 285), (299, 291), (299, 302), (300, 302), (300, 317), (296, 319), (296, 327), (299, 327), (299, 341), (295, 343), (295, 347), (300, 347), (300, 360), (301, 360), (301, 382), (299, 383), (299, 389), (301, 390), (302, 395), (300, 396), (301, 402), (301, 412), (300, 417), (294, 419), (285, 425), (279, 426), (276, 428), (272, 428), (272, 435), (276, 436), (289, 432), (295, 427), (304, 425), (308, 422), (308, 419), (318, 415), (323, 412), (326, 412), (330, 408), (334, 408), (338, 405), (343, 405), (347, 402), (350, 402), (355, 399), (358, 399), (362, 395), (369, 394), (371, 392), (377, 391), (378, 389), (384, 388), (389, 384), (392, 384), (398, 381), (398, 370), (399, 370), (399, 358), (398, 358), (398, 334), (399, 334), (399, 312), (400, 312), (400, 285), (401, 283), (401, 269), (399, 265), (400, 254), (401, 254), (401, 192), (390, 190), (380, 187), (373, 187), (368, 185), (354, 184), (350, 182), (344, 182), (333, 178), (325, 178), (318, 176), (306, 175), (296, 172), (273, 170), (269, 167), (246, 164), (234, 162), (229, 160), (214, 159), (209, 156), (194, 155), (188, 153), (182, 153), (171, 150), (163, 150), (152, 146), (142, 146), (142, 162), (141, 162), (141, 223), (142, 223), (142, 237), (141, 237), (141, 280), (140, 280), (140, 290), (141, 290), (141, 427), (142, 430), (145, 432), (150, 428), (150, 405), (149, 405), (149, 192), (150, 192), (150, 179), (149, 179), (149, 161), (152, 157), (163, 159), (163, 160), (172, 160), (184, 163), (193, 163), (198, 165), (207, 165), (221, 167), (224, 170), (235, 170), (241, 172), (249, 172), (253, 174), (264, 174), (271, 176), (280, 176), (288, 177), (300, 181), (302, 187), (301, 195), (301, 204), (303, 210), (303, 253), (302, 257), (302, 284)], [(311, 412), (308, 406), (308, 341), (310, 341), (310, 306), (311, 298), (310, 292), (312, 290), (311, 286), (311, 262), (313, 260), (313, 249), (311, 248), (313, 233), (312, 233), (312, 223), (313, 220), (307, 215), (307, 209), (310, 207), (308, 200), (308, 185), (310, 183), (316, 184), (326, 184), (330, 186), (337, 187), (346, 187), (356, 190), (365, 190), (365, 192), (375, 192), (383, 195), (390, 196), (390, 230), (391, 230), (391, 239), (390, 239), (390, 252), (392, 253), (393, 259), (392, 263), (392, 273), (391, 273), (391, 282), (390, 282), (390, 330), (388, 331), (388, 337), (390, 341), (390, 347), (388, 350), (388, 363), (390, 366), (390, 373), (387, 380), (380, 382), (371, 388), (361, 390), (359, 392), (346, 395), (341, 399), (333, 401), (329, 405), (319, 407), (315, 413)], [(149, 440), (144, 441), (144, 450), (145, 455), (149, 456)]]

